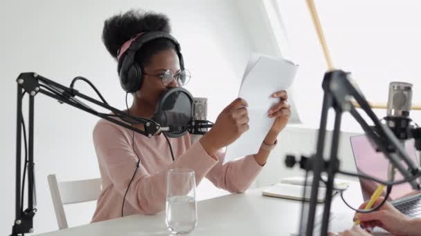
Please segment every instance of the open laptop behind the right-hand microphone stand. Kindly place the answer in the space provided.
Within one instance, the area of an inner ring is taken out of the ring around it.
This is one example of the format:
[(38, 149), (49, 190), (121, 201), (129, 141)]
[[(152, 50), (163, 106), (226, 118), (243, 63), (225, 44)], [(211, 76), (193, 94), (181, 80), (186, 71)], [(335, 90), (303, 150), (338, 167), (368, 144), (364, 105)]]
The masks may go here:
[[(368, 137), (366, 135), (352, 136), (350, 137), (350, 141), (357, 171), (387, 180), (388, 159), (383, 153), (376, 152), (375, 147), (371, 144)], [(405, 148), (413, 163), (419, 166), (420, 162), (418, 161), (413, 141), (406, 141)], [(403, 179), (403, 177), (396, 170), (395, 180), (400, 179)], [(359, 182), (364, 201), (368, 201), (379, 184), (364, 178), (359, 178)], [(383, 193), (383, 196), (385, 195), (386, 188)], [(408, 183), (393, 186), (388, 201), (404, 215), (409, 217), (421, 216), (421, 191), (413, 190)]]

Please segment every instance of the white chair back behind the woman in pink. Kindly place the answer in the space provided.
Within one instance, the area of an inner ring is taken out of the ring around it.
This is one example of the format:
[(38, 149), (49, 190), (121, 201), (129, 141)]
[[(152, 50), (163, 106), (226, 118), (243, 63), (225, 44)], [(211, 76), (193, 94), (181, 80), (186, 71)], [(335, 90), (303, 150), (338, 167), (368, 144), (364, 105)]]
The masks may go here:
[(55, 217), (58, 228), (69, 228), (64, 205), (76, 204), (98, 199), (101, 190), (101, 179), (85, 179), (80, 181), (57, 182), (55, 175), (48, 175), (51, 198), (53, 199)]

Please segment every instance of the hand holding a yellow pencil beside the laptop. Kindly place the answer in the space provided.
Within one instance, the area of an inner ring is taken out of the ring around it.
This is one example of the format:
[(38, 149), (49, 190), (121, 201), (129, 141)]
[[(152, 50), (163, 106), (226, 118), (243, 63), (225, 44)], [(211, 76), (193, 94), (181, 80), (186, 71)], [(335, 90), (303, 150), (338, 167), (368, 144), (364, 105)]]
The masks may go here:
[[(377, 206), (383, 201), (383, 197), (379, 197), (375, 202), (374, 206)], [(364, 209), (366, 207), (365, 202), (359, 208)], [(392, 233), (393, 235), (415, 235), (420, 232), (421, 226), (412, 224), (411, 219), (406, 215), (400, 213), (392, 204), (386, 201), (379, 210), (373, 213), (356, 213), (355, 219), (361, 221), (361, 226), (368, 230), (373, 228), (381, 227)], [(418, 228), (418, 230), (417, 230)]]

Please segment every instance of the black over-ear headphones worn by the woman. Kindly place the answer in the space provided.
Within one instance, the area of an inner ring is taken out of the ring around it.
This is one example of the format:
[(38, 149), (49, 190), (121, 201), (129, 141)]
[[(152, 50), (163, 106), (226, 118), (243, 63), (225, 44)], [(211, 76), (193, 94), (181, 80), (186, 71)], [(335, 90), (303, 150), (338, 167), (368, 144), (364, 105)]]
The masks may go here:
[(134, 61), (134, 55), (145, 43), (154, 39), (169, 39), (174, 43), (177, 55), (179, 56), (180, 68), (181, 70), (184, 70), (183, 55), (181, 55), (181, 48), (177, 39), (166, 32), (145, 32), (130, 44), (129, 48), (124, 52), (125, 57), (118, 62), (121, 64), (121, 66), (119, 66), (120, 71), (118, 72), (120, 84), (126, 92), (136, 92), (141, 88), (143, 80), (142, 69), (141, 66)]

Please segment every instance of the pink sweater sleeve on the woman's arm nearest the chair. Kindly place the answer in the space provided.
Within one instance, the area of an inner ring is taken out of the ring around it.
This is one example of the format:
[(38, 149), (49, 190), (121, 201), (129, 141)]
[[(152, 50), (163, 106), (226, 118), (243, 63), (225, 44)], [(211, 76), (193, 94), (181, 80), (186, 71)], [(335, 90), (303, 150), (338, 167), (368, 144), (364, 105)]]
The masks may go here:
[[(98, 159), (109, 175), (111, 183), (121, 195), (132, 179), (138, 158), (133, 151), (132, 139), (125, 136), (122, 130), (107, 123), (98, 124), (93, 130), (93, 143)], [(165, 208), (166, 175), (171, 168), (190, 168), (195, 170), (196, 184), (203, 179), (217, 161), (210, 157), (199, 142), (193, 144), (185, 153), (158, 173), (148, 173), (142, 165), (144, 158), (137, 152), (140, 165), (126, 195), (136, 210), (148, 215), (159, 213)], [(151, 157), (147, 157), (151, 158)]]

